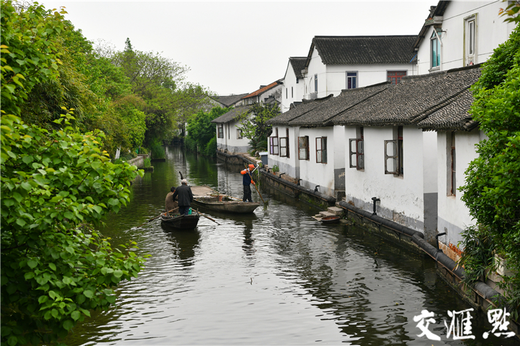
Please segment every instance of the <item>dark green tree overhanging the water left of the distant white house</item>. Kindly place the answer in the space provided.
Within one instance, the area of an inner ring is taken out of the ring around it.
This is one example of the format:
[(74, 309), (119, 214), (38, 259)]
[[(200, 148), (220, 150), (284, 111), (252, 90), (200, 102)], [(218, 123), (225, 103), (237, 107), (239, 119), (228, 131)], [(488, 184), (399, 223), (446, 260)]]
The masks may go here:
[(188, 120), (185, 146), (191, 151), (198, 151), (202, 155), (216, 155), (216, 131), (212, 120), (227, 113), (229, 108), (213, 107), (209, 112), (200, 110)]

